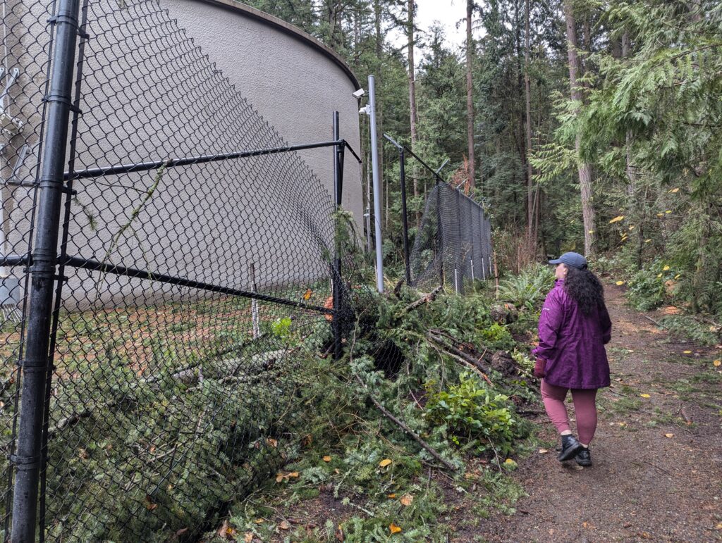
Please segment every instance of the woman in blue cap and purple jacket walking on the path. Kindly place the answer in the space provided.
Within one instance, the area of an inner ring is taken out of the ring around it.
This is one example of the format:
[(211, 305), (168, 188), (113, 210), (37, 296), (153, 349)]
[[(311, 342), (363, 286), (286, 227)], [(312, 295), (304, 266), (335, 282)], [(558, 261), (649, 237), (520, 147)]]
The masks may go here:
[[(612, 321), (604, 305), (604, 288), (587, 269), (586, 259), (566, 252), (557, 260), (557, 281), (539, 317), (539, 346), (534, 375), (541, 378), (541, 397), (562, 436), (560, 462), (575, 459), (591, 466), (589, 443), (596, 431), (596, 391), (609, 387), (604, 345), (612, 337)], [(564, 405), (572, 391), (579, 438), (575, 438)]]

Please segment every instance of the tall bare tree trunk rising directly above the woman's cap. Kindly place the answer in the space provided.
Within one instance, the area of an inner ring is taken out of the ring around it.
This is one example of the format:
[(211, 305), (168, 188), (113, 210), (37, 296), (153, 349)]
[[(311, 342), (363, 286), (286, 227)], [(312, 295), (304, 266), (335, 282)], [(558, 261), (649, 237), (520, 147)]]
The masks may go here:
[[(583, 100), (582, 91), (577, 82), (579, 73), (579, 57), (577, 54), (577, 30), (572, 9), (572, 0), (564, 0), (564, 16), (567, 22), (567, 55), (569, 58), (569, 85), (571, 88), (572, 100), (576, 102), (575, 112), (579, 115)], [(594, 232), (594, 208), (592, 205), (591, 189), (591, 166), (583, 162), (580, 157), (581, 134), (577, 133), (575, 138), (575, 149), (577, 151), (579, 185), (582, 198), (582, 218), (584, 223), (584, 252), (587, 256), (594, 254), (596, 250)]]

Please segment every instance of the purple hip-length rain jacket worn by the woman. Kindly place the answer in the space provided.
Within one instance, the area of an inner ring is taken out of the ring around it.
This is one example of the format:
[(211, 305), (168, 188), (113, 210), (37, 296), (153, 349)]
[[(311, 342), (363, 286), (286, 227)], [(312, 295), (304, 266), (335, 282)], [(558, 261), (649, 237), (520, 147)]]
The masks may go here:
[(531, 352), (547, 361), (544, 381), (569, 389), (609, 387), (609, 361), (604, 345), (612, 337), (606, 306), (585, 316), (557, 281), (539, 317), (539, 346)]

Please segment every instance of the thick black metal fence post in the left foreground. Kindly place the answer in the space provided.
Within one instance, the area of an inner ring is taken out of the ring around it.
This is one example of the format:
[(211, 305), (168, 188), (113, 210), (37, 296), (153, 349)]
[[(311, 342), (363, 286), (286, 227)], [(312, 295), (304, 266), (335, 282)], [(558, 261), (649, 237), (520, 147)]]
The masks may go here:
[[(47, 106), (47, 128), (40, 169), (40, 201), (35, 226), (28, 304), (27, 349), (22, 361), (22, 401), (15, 454), (10, 458), (15, 476), (12, 508), (13, 543), (35, 541), (38, 518), (41, 438), (45, 380), (48, 376), (53, 285), (58, 260), (58, 230), (63, 195), (63, 170), (68, 139), (75, 45), (78, 35), (79, 0), (58, 0), (50, 19), (56, 25)], [(42, 529), (42, 528), (41, 528)]]

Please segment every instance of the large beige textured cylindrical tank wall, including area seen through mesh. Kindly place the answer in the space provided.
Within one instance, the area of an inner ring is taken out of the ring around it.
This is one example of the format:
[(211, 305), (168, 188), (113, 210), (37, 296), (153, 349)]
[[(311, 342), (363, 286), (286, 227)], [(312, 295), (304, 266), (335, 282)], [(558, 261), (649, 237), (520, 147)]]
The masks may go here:
[[(137, 17), (134, 2), (127, 1), (128, 7), (120, 12), (118, 5), (116, 0), (91, 5), (92, 40), (84, 66), (81, 106), (84, 115), (79, 121), (76, 169), (214, 154), (235, 151), (239, 146), (240, 149), (268, 146), (261, 139), (251, 137), (251, 143), (248, 141), (253, 131), (264, 134), (264, 127), (258, 123), (248, 128), (248, 134), (224, 132), (226, 128), (237, 129), (238, 123), (230, 119), (232, 113), (222, 108), (212, 110), (212, 105), (222, 102), (229, 92), (245, 98), (287, 144), (330, 140), (331, 114), (338, 110), (342, 138), (359, 150), (357, 100), (352, 96), (355, 84), (331, 54), (307, 38), (293, 35), (232, 4), (161, 0), (160, 8), (167, 9), (168, 15), (155, 23), (185, 30), (192, 45), (183, 47), (200, 48), (208, 63), (213, 63), (220, 72), (219, 87), (206, 91), (210, 109), (204, 102), (206, 97), (195, 97), (196, 102), (188, 102), (187, 111), (179, 114), (178, 110), (167, 107), (159, 110), (157, 106), (167, 104), (174, 78), (181, 87), (183, 78), (195, 74), (184, 72), (182, 67), (173, 71), (173, 61), (159, 65), (162, 74), (152, 70), (138, 74), (132, 58), (142, 54), (134, 45), (140, 48), (142, 45), (124, 42), (123, 32), (116, 28), (124, 24), (131, 29), (133, 17)], [(153, 23), (143, 19), (143, 24)], [(33, 47), (41, 50), (45, 39), (46, 35), (40, 33)], [(188, 53), (184, 50), (183, 54)], [(22, 63), (22, 56), (15, 60)], [(35, 94), (17, 97), (20, 110), (35, 111), (41, 107), (37, 91), (42, 81), (37, 81), (37, 72), (35, 67), (31, 78)], [(224, 78), (232, 86), (230, 91), (222, 83)], [(183, 96), (175, 98), (174, 105), (183, 103)], [(188, 123), (179, 125), (183, 115), (188, 116)], [(141, 118), (146, 122), (139, 123)], [(206, 133), (196, 137), (196, 131)], [(219, 142), (217, 147), (213, 144), (214, 135)], [(19, 172), (26, 182), (32, 180), (38, 154), (36, 138), (27, 141), (30, 151)], [(174, 141), (178, 143), (174, 145)], [(6, 149), (8, 161), (12, 160), (10, 151)], [(308, 205), (306, 191), (314, 192), (318, 187), (305, 187), (303, 180), (317, 185), (313, 176), (308, 175), (310, 168), (327, 193), (333, 194), (331, 148), (301, 151), (299, 155), (303, 162), (293, 171), (275, 171), (272, 159), (246, 159), (244, 182), (253, 180), (255, 172), (258, 183), (244, 185), (245, 192), (235, 195), (232, 176), (240, 170), (232, 164), (168, 169), (153, 198), (134, 219), (132, 229), (125, 226), (143, 194), (154, 185), (155, 171), (79, 180), (75, 186), (77, 198), (71, 205), (68, 253), (232, 288), (250, 286), (251, 262), (261, 288), (323, 277), (327, 273), (323, 248), (318, 247), (318, 232), (310, 228), (318, 216), (308, 216), (304, 209)], [(109, 188), (113, 183), (132, 190)], [(25, 188), (4, 190), (7, 252), (23, 252), (27, 242), (27, 228), (22, 225), (27, 225), (30, 216), (29, 192), (32, 191)], [(23, 197), (13, 197), (14, 193), (22, 193)], [(343, 203), (361, 224), (360, 170), (349, 153), (344, 167)], [(121, 231), (121, 237), (116, 239)], [(330, 246), (328, 231), (322, 237), (323, 243)], [(289, 247), (289, 239), (295, 240), (298, 247)], [(227, 261), (220, 262), (220, 258)], [(13, 271), (19, 272), (19, 268)], [(166, 299), (169, 295), (173, 299), (188, 296), (188, 291), (182, 293), (177, 287), (158, 283), (150, 285), (149, 281), (113, 275), (101, 279), (97, 273), (72, 269), (66, 270), (66, 275), (69, 283), (64, 289), (64, 300), (71, 310), (98, 302), (125, 304), (134, 299), (134, 303), (143, 304), (151, 303), (157, 296)]]

